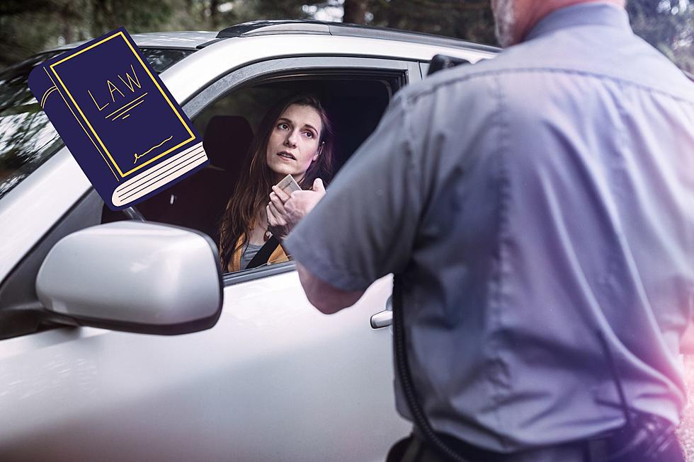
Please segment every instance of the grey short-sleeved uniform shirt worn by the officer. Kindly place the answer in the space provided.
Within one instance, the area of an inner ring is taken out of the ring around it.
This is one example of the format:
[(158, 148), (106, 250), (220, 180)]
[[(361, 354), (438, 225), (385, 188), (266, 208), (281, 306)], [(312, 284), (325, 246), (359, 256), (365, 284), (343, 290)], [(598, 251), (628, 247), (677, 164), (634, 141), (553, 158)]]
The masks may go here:
[(341, 289), (402, 278), (439, 432), (516, 451), (620, 427), (597, 330), (629, 405), (678, 422), (693, 89), (622, 8), (555, 11), (496, 59), (402, 90), (285, 244)]

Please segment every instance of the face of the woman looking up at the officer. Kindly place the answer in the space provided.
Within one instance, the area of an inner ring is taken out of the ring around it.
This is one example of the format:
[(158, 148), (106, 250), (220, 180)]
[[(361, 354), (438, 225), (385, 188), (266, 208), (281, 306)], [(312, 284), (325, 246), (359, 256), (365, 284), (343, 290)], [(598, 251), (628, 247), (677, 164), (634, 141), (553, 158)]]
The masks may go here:
[(277, 180), (291, 174), (300, 181), (318, 158), (319, 136), (323, 124), (318, 111), (310, 106), (290, 105), (268, 139), (266, 160)]

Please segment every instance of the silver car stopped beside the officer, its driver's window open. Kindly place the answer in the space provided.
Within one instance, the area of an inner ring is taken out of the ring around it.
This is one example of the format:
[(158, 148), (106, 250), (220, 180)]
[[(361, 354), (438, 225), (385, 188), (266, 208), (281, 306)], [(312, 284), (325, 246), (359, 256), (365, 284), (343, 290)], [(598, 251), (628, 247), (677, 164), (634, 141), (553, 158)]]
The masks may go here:
[(60, 50), (0, 73), (0, 461), (383, 460), (411, 428), (394, 409), (391, 278), (324, 316), (291, 261), (221, 275), (217, 219), (273, 101), (318, 93), (341, 165), (435, 54), (496, 49), (314, 21), (133, 38), (211, 164), (124, 213), (25, 86)]

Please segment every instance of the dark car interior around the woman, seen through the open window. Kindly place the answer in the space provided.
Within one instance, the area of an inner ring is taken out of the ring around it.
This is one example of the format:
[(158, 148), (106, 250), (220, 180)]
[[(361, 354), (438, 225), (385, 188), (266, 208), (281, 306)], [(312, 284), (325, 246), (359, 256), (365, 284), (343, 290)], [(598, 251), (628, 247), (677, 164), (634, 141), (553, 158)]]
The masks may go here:
[[(212, 101), (192, 118), (203, 136), (210, 163), (194, 175), (134, 208), (147, 221), (203, 231), (218, 244), (220, 217), (239, 179), (241, 166), (265, 112), (273, 104), (300, 93), (321, 100), (334, 126), (334, 173), (377, 127), (396, 77), (334, 73), (266, 77)], [(329, 184), (328, 184), (329, 189)], [(132, 215), (132, 212), (131, 212)], [(103, 207), (102, 223), (127, 219), (124, 212)]]

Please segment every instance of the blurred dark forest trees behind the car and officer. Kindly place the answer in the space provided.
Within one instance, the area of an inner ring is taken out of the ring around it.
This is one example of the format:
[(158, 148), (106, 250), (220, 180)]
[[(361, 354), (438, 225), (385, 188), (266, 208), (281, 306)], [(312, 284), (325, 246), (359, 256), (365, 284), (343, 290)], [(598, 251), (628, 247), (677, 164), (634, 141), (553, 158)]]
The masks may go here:
[[(627, 10), (638, 35), (694, 71), (694, 0), (628, 0)], [(219, 30), (280, 18), (380, 25), (496, 45), (489, 0), (1, 0), (0, 68), (121, 25), (130, 33)]]

